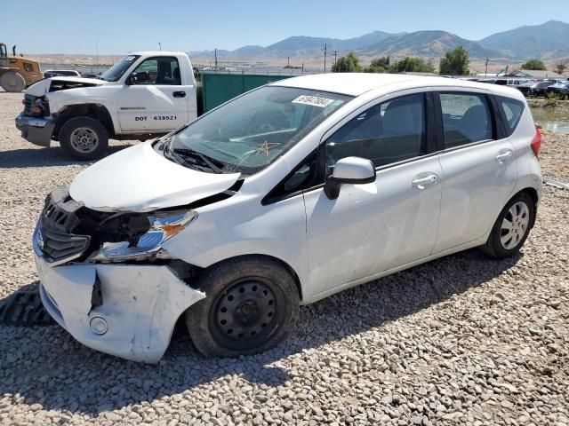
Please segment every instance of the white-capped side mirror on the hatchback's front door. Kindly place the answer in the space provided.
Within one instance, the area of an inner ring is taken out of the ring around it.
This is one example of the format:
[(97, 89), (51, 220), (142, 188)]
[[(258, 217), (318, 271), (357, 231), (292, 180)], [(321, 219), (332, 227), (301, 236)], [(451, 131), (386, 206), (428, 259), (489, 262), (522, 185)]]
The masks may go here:
[(372, 182), (375, 182), (373, 162), (360, 157), (346, 157), (336, 162), (332, 176), (326, 179), (324, 192), (330, 200), (335, 200), (343, 184), (364, 185)]

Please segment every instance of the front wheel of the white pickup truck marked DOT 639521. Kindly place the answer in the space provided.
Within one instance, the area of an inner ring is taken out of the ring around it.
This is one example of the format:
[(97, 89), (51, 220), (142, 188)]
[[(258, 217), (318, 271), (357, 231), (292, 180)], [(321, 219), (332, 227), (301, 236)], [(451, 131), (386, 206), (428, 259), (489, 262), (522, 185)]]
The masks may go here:
[(72, 118), (60, 129), (60, 146), (76, 160), (96, 160), (107, 151), (107, 129), (91, 117)]

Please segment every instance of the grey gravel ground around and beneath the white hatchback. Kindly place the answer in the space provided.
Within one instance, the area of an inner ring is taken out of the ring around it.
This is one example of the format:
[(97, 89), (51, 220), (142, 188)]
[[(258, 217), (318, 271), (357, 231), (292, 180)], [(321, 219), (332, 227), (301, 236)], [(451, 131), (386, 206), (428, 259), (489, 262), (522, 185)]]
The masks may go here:
[[(86, 166), (20, 138), (20, 99), (0, 92), (0, 299), (37, 279), (44, 196)], [(546, 134), (541, 162), (569, 181), (569, 137)], [(470, 250), (344, 291), (257, 356), (204, 359), (180, 335), (148, 366), (0, 326), (0, 424), (569, 425), (568, 206), (546, 187), (520, 256)]]

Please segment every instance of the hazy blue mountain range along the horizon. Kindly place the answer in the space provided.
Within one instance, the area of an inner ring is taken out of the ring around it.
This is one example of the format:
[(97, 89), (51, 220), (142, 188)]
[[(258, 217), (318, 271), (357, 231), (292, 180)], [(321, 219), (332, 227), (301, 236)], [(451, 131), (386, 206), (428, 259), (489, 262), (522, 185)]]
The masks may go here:
[[(235, 51), (218, 50), (223, 59), (261, 60), (274, 58), (311, 58), (322, 56), (324, 45), (329, 54), (356, 51), (358, 56), (441, 57), (446, 51), (464, 46), (471, 58), (485, 59), (552, 59), (569, 56), (569, 24), (549, 20), (541, 25), (525, 26), (472, 41), (441, 30), (412, 33), (373, 31), (364, 36), (337, 39), (291, 36), (263, 47), (249, 45)], [(213, 51), (191, 51), (193, 57), (209, 57)]]

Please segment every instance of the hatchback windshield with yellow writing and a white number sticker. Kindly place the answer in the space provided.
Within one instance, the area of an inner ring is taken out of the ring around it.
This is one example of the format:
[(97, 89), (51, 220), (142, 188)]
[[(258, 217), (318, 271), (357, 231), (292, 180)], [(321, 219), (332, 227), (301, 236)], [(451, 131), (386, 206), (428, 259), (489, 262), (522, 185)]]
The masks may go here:
[(174, 134), (164, 155), (198, 170), (250, 176), (350, 99), (325, 91), (264, 86)]

